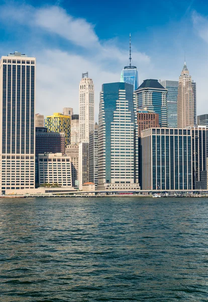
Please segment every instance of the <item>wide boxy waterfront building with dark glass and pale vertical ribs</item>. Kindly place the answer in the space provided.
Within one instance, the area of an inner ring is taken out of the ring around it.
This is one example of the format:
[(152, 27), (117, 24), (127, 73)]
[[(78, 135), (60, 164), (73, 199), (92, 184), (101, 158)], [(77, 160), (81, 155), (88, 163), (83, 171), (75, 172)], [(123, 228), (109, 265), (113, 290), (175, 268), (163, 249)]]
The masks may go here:
[(190, 129), (147, 129), (142, 132), (141, 140), (145, 158), (142, 163), (143, 189), (192, 188)]

